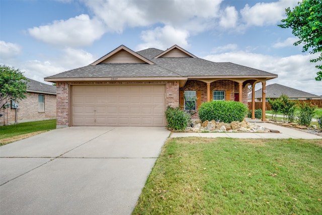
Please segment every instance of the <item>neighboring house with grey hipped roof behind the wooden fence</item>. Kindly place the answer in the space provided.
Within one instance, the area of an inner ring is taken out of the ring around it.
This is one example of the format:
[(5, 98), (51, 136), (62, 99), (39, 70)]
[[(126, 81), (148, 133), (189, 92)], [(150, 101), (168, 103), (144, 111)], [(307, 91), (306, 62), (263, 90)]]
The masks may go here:
[[(279, 84), (271, 84), (266, 86), (266, 101), (268, 99), (280, 98), (281, 95), (288, 96), (291, 100), (313, 100), (321, 99), (320, 96), (306, 93), (304, 91), (296, 90), (294, 88), (286, 87)], [(248, 101), (252, 101), (251, 95), (248, 97)], [(255, 101), (262, 101), (262, 89), (255, 91)]]

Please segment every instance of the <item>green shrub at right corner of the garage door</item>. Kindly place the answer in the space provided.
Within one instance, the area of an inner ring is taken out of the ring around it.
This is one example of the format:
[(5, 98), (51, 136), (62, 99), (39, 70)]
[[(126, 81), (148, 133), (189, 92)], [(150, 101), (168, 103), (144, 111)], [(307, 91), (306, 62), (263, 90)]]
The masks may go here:
[(179, 107), (168, 106), (165, 115), (168, 121), (167, 127), (175, 130), (185, 130), (191, 119), (190, 114)]

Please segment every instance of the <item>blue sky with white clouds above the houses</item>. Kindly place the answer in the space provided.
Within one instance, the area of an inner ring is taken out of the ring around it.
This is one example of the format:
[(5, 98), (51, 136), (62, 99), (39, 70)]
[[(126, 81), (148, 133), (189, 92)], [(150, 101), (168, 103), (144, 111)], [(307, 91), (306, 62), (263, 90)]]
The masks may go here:
[[(197, 57), (277, 74), (278, 83), (322, 95), (314, 55), (278, 26), (298, 0), (0, 0), (0, 64), (27, 78), (89, 65), (120, 45), (179, 45)], [(315, 55), (316, 57), (316, 55)], [(44, 82), (45, 83), (45, 82)], [(256, 90), (261, 84), (256, 85)]]

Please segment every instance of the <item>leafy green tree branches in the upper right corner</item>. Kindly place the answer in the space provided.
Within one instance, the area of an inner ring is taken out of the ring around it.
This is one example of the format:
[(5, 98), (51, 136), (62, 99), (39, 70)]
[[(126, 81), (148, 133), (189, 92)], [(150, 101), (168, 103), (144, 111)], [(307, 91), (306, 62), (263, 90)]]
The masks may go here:
[[(291, 28), (292, 33), (298, 37), (294, 45), (303, 44), (302, 51), (310, 50), (310, 54), (319, 53), (316, 59), (310, 62), (322, 60), (322, 0), (303, 0), (293, 10), (285, 9), (287, 18), (281, 20), (284, 24), (281, 28)], [(320, 69), (316, 73), (316, 81), (322, 80), (322, 64), (316, 65)]]

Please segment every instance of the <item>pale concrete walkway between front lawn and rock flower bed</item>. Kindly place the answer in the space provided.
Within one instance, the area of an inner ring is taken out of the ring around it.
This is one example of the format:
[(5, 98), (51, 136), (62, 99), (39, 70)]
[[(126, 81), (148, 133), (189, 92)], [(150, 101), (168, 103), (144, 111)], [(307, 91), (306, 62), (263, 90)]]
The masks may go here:
[(187, 136), (199, 136), (199, 137), (232, 137), (232, 138), (274, 138), (274, 139), (322, 139), (322, 136), (310, 134), (304, 131), (295, 130), (267, 122), (256, 122), (257, 125), (269, 128), (271, 130), (278, 130), (279, 133), (231, 133), (231, 132), (213, 132), (213, 133), (186, 133), (186, 132), (173, 132), (170, 137), (187, 137)]

